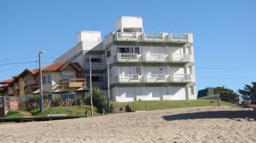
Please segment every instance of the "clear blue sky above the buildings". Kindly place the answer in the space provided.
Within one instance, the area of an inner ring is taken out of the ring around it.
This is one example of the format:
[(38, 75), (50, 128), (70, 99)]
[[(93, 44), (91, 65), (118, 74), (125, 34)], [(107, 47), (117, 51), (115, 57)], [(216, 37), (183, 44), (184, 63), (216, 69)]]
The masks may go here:
[[(192, 32), (197, 89), (237, 90), (256, 81), (255, 0), (1, 0), (0, 80), (71, 49), (81, 30), (114, 30), (121, 15), (142, 16), (144, 31)], [(8, 64), (8, 65), (4, 65)]]

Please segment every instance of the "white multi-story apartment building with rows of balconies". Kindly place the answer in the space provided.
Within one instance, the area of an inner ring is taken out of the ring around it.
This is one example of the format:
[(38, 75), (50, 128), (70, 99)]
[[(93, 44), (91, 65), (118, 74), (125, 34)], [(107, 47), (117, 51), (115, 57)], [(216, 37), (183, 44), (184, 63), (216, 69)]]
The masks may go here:
[(122, 16), (101, 41), (100, 31), (80, 31), (77, 45), (57, 60), (79, 62), (92, 86), (107, 89), (111, 100), (194, 100), (195, 66), (190, 33), (147, 33), (141, 17)]

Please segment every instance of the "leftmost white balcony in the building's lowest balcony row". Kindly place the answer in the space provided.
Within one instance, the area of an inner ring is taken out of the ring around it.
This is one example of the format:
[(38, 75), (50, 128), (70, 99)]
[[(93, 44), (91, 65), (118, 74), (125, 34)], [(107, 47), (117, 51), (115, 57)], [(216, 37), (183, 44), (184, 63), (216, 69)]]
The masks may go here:
[(119, 74), (116, 77), (117, 83), (140, 83), (143, 76), (139, 74)]

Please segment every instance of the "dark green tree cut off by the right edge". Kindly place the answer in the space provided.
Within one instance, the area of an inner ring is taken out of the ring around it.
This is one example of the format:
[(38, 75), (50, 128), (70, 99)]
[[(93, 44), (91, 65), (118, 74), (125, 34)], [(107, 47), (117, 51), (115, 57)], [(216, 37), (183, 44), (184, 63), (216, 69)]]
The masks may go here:
[(256, 104), (256, 82), (252, 82), (252, 85), (245, 84), (243, 89), (238, 89), (238, 92), (244, 100), (251, 100), (253, 104)]

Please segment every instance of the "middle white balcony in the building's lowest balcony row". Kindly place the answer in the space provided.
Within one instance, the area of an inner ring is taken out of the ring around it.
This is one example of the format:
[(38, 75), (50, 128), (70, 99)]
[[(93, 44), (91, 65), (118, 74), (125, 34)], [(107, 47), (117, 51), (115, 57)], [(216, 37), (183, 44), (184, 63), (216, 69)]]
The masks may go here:
[(145, 76), (146, 83), (166, 83), (168, 75), (165, 74), (147, 74)]

